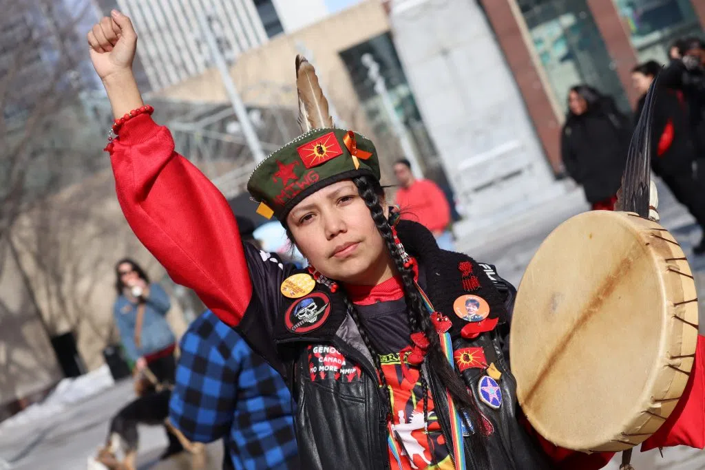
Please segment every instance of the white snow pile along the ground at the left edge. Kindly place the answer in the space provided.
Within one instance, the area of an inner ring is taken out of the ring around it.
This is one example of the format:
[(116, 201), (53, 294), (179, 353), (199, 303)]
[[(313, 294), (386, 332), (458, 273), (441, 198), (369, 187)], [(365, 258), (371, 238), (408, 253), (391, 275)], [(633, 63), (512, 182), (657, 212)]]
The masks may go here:
[[(32, 404), (0, 423), (0, 433), (11, 431), (16, 426), (47, 421), (52, 416), (63, 412), (69, 405), (82, 402), (97, 392), (111, 387), (114, 383), (106, 364), (80, 377), (64, 378), (42, 402)], [(0, 469), (2, 469), (1, 465)]]

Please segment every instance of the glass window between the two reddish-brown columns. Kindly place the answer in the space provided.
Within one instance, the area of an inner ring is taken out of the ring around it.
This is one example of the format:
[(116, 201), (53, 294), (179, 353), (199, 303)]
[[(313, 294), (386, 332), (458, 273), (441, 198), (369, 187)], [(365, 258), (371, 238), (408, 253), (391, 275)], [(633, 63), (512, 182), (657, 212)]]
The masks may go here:
[(568, 111), (568, 90), (581, 83), (629, 101), (586, 0), (517, 0), (553, 93)]

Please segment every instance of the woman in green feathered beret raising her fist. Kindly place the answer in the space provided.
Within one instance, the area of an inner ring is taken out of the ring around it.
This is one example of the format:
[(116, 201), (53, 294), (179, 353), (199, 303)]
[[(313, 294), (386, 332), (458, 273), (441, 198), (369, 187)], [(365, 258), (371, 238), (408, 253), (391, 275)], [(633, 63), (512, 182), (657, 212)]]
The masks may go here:
[[(556, 452), (525, 430), (503, 351), (515, 290), (491, 266), (439, 249), (429, 230), (400, 220), (385, 202), (372, 142), (313, 126), (252, 173), (259, 214), (276, 216), (309, 260), (309, 270), (297, 269), (243, 244), (226, 199), (154, 123), (131, 70), (130, 20), (114, 11), (88, 41), (116, 117), (106, 149), (125, 218), (171, 278), (284, 378), (302, 468), (608, 462), (612, 454)], [(305, 60), (298, 66), (317, 82)], [(481, 320), (457, 313), (468, 298), (479, 300)]]

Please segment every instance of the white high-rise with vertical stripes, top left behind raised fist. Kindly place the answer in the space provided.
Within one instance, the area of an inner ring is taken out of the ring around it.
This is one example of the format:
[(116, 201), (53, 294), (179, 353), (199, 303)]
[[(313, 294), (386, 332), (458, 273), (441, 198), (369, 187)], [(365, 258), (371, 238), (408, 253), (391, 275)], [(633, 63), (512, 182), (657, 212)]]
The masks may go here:
[(233, 63), (271, 37), (324, 18), (323, 0), (93, 0), (104, 15), (110, 4), (140, 32), (137, 55), (152, 90), (204, 73), (212, 62), (200, 16), (207, 16), (223, 58)]

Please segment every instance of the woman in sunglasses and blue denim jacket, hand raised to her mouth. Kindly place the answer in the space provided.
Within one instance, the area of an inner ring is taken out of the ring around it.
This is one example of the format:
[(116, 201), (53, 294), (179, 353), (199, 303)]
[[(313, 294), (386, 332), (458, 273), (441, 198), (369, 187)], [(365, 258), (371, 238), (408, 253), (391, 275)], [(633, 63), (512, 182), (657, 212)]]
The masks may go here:
[[(118, 297), (113, 316), (125, 354), (135, 364), (135, 374), (149, 369), (159, 383), (173, 383), (176, 338), (166, 322), (166, 313), (171, 308), (168, 295), (161, 285), (149, 283), (145, 270), (132, 259), (118, 261), (115, 272)], [(164, 429), (169, 445), (161, 459), (183, 451), (176, 436), (166, 426)]]

